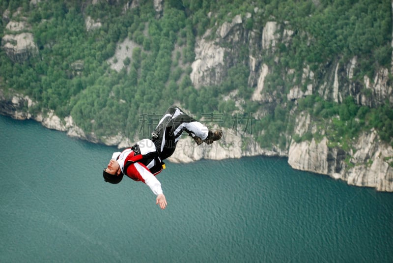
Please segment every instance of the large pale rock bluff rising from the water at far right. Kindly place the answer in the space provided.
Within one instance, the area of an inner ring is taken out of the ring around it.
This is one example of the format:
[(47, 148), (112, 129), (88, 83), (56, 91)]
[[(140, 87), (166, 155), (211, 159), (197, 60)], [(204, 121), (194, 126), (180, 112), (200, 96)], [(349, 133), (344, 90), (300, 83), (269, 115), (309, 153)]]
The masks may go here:
[[(348, 184), (374, 187), (378, 191), (393, 192), (392, 146), (382, 144), (375, 131), (364, 133), (353, 144), (352, 155), (339, 147), (329, 147), (322, 141), (295, 143), (288, 151), (288, 164), (298, 170), (330, 175)], [(349, 158), (346, 158), (346, 157)]]

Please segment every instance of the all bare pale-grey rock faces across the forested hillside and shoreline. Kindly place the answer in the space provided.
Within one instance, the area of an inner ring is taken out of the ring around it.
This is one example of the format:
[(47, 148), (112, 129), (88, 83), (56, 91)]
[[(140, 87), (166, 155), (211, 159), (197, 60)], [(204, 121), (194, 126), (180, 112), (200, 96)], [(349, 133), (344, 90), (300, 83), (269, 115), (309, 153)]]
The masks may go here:
[[(159, 17), (163, 9), (162, 1), (154, 1), (154, 6)], [(350, 95), (359, 105), (375, 107), (386, 101), (393, 105), (393, 90), (389, 82), (392, 69), (379, 68), (373, 78), (364, 76), (362, 83), (352, 81), (354, 71), (359, 66), (356, 57), (352, 58), (349, 63), (341, 62), (339, 59), (334, 60), (324, 66), (318, 78), (310, 66), (305, 64), (301, 74), (302, 87), (294, 85), (288, 91), (284, 89), (267, 91), (266, 79), (269, 74), (272, 74), (274, 63), (265, 61), (265, 57), (261, 54), (269, 54), (274, 58), (273, 60), (277, 60), (275, 52), (278, 47), (289, 45), (294, 32), (287, 23), (279, 24), (273, 20), (263, 25), (262, 29), (247, 29), (245, 21), (257, 12), (259, 10), (255, 9), (254, 13), (246, 13), (244, 16), (236, 15), (231, 21), (218, 26), (214, 31), (213, 29), (207, 30), (203, 36), (197, 38), (196, 57), (191, 64), (190, 74), (195, 88), (219, 85), (225, 80), (230, 67), (242, 63), (250, 68), (248, 85), (254, 90), (251, 99), (261, 105), (289, 101), (296, 103), (298, 99), (312, 94), (337, 103), (341, 103), (345, 97)], [(101, 25), (87, 17), (85, 26), (86, 30), (94, 30)], [(8, 34), (4, 35), (2, 45), (10, 59), (22, 61), (36, 54), (36, 45), (33, 37), (27, 32), (27, 24), (9, 21), (7, 29)], [(131, 41), (127, 42), (127, 46), (138, 45)], [(247, 59), (240, 60), (241, 47), (247, 47), (249, 51)], [(109, 62), (121, 62), (123, 55), (116, 51), (115, 56), (118, 59), (110, 59)], [(115, 70), (121, 67), (122, 65), (112, 63), (112, 68)], [(287, 69), (287, 75), (293, 74), (294, 71), (294, 69)], [(286, 75), (281, 77), (287, 78)], [(241, 101), (242, 98), (236, 94), (237, 90), (233, 90), (224, 94), (224, 99), (233, 99), (242, 110), (240, 105), (244, 104), (244, 101)], [(284, 98), (284, 101), (280, 101), (279, 98)], [(98, 139), (94, 134), (86, 134), (77, 127), (72, 117), (60, 119), (52, 111), (34, 114), (33, 106), (34, 102), (27, 96), (12, 92), (4, 94), (0, 88), (0, 114), (18, 119), (33, 118), (48, 128), (66, 131), (69, 136), (94, 143), (119, 147), (129, 146), (132, 143), (122, 134)], [(264, 112), (255, 113), (257, 117), (264, 116), (264, 114)], [(255, 142), (252, 134), (247, 135), (241, 129), (225, 128), (223, 139), (211, 146), (196, 146), (190, 138), (181, 139), (170, 161), (191, 162), (201, 158), (219, 160), (255, 155), (285, 156), (288, 157), (288, 163), (294, 169), (329, 175), (345, 180), (351, 185), (374, 187), (378, 191), (393, 191), (393, 167), (391, 165), (393, 148), (382, 142), (375, 130), (366, 131), (359, 138), (354, 138), (349, 147), (332, 144), (326, 136), (322, 136), (319, 140), (297, 142), (293, 139), (294, 134), (301, 137), (309, 131), (318, 130), (318, 133), (323, 135), (325, 131), (313, 123), (307, 112), (301, 112), (292, 117), (296, 119), (295, 128), (284, 135), (287, 138), (284, 147), (272, 146), (269, 149), (263, 149)]]

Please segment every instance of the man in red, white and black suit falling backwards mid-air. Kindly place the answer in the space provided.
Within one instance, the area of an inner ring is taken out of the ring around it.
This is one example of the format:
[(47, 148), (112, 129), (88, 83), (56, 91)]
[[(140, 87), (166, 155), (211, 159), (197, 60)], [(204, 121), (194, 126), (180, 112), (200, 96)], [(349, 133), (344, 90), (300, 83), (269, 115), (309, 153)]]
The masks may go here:
[(143, 139), (122, 152), (114, 152), (103, 171), (104, 180), (119, 183), (124, 175), (135, 181), (142, 181), (157, 196), (156, 205), (167, 206), (159, 174), (167, 159), (175, 151), (177, 141), (183, 132), (193, 137), (197, 145), (212, 144), (223, 136), (222, 130), (210, 131), (204, 124), (185, 114), (180, 108), (171, 106), (152, 132), (151, 139)]

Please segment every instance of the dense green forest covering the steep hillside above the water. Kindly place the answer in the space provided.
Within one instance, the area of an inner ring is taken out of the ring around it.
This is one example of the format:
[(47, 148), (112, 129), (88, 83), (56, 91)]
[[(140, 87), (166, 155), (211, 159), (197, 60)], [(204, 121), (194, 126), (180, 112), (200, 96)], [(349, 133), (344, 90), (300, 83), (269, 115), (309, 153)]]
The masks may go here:
[[(276, 103), (261, 104), (251, 100), (255, 87), (248, 85), (247, 63), (231, 65), (225, 80), (217, 86), (195, 88), (190, 79), (196, 39), (208, 29), (214, 31), (230, 22), (235, 15), (246, 18), (246, 13), (253, 14), (244, 22), (246, 30), (261, 31), (266, 22), (274, 20), (291, 25), (294, 31), (291, 45), (278, 47), (280, 63), (264, 55), (266, 61), (276, 64), (265, 80), (265, 92), (274, 92), (277, 87), (306, 87), (307, 83), (283, 79), (282, 72), (287, 68), (301, 75), (308, 64), (319, 72), (321, 65), (354, 56), (360, 66), (352, 81), (360, 82), (365, 75), (373, 79), (381, 67), (391, 68), (391, 1), (165, 0), (159, 17), (151, 0), (139, 0), (136, 6), (124, 8), (129, 2), (1, 1), (1, 14), (19, 10), (16, 19), (27, 19), (39, 55), (18, 63), (0, 50), (0, 88), (37, 101), (36, 113), (54, 110), (59, 117), (72, 116), (79, 127), (98, 137), (119, 132), (128, 138), (138, 137), (141, 116), (154, 117), (172, 104), (198, 118), (217, 114), (221, 116), (220, 125), (230, 128), (239, 107), (224, 96), (236, 89), (241, 115), (261, 109), (265, 113), (253, 120), (253, 136), (263, 147), (285, 146), (284, 134), (293, 130), (290, 116), (294, 111), (308, 111), (321, 124), (333, 119), (330, 140), (343, 146), (361, 130), (372, 127), (382, 140), (392, 144), (393, 110), (389, 102), (368, 107), (356, 104), (350, 96), (337, 103), (314, 94), (296, 103), (278, 97)], [(102, 26), (86, 30), (86, 17)], [(4, 21), (0, 33), (0, 37), (8, 33)], [(117, 44), (125, 39), (136, 47), (124, 59), (124, 67), (116, 71), (108, 61)], [(246, 61), (249, 53), (247, 47), (240, 50), (238, 60)], [(300, 81), (301, 77), (296, 79)], [(293, 139), (312, 137), (318, 134)]]

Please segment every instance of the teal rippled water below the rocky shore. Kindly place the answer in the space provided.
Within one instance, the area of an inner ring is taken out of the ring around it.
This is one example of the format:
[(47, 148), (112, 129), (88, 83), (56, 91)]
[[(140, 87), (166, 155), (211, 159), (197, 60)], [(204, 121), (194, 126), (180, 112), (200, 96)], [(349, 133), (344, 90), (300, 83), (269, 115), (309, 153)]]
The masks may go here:
[(116, 148), (0, 116), (0, 262), (393, 262), (393, 194), (285, 158), (167, 162), (165, 210)]

